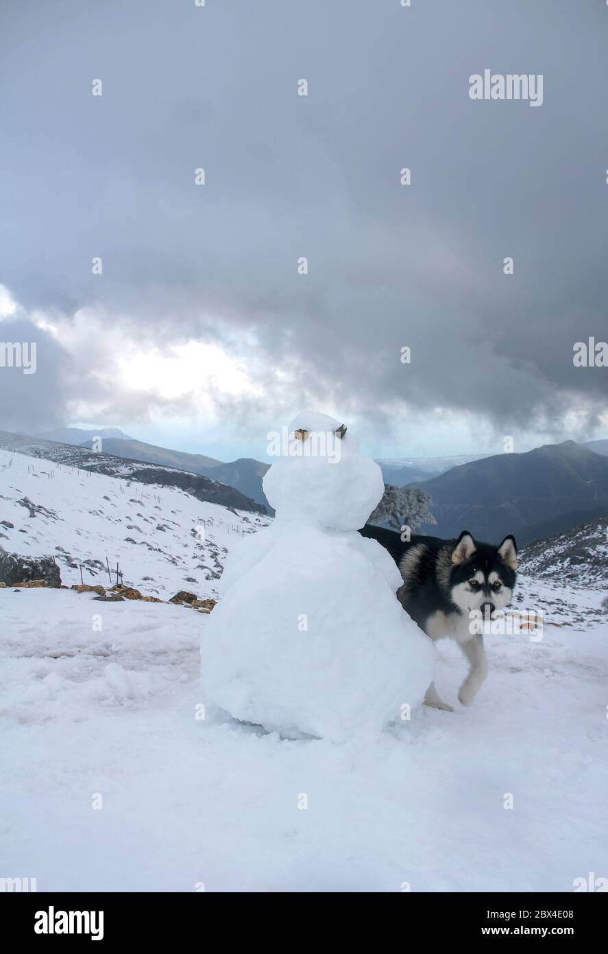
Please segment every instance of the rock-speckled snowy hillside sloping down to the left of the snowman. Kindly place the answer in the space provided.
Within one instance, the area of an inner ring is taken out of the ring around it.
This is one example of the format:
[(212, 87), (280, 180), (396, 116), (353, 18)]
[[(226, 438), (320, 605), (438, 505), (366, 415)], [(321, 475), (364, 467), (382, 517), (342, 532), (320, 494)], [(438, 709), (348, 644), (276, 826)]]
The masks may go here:
[[(79, 449), (79, 448), (75, 448)], [(93, 455), (94, 456), (94, 455)], [(62, 582), (123, 582), (167, 598), (214, 596), (231, 541), (271, 518), (157, 487), (0, 450), (0, 546), (52, 556)]]

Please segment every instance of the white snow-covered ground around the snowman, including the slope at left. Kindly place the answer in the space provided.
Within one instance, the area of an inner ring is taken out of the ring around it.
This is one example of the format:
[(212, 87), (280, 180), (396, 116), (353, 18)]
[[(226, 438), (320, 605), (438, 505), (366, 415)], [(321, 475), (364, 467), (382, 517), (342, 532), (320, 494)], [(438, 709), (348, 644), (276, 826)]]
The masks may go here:
[[(6, 549), (40, 556), (58, 543), (72, 562), (108, 552), (143, 591), (171, 595), (193, 575), (213, 595), (193, 570), (191, 530), (205, 513), (225, 525), (242, 514), (174, 488), (143, 487), (142, 499), (142, 487), (82, 471), (50, 479), (42, 461), (33, 476), (12, 456), (0, 471)], [(56, 519), (30, 517), (23, 496)], [(213, 524), (220, 550), (234, 539), (225, 525)], [(0, 877), (36, 878), (39, 891), (571, 891), (590, 872), (608, 877), (603, 594), (530, 578), (520, 592), (519, 608), (545, 610), (542, 638), (488, 636), (472, 708), (456, 701), (464, 660), (442, 642), (436, 685), (456, 712), (423, 707), (334, 744), (200, 717), (210, 616), (0, 590)]]

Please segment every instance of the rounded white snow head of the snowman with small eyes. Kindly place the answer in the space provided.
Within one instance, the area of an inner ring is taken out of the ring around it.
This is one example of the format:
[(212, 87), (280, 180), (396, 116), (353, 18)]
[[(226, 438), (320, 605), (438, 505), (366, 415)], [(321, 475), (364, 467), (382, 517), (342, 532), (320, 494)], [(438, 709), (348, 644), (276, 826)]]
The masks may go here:
[(316, 411), (289, 425), (263, 487), (277, 519), (337, 530), (363, 527), (384, 493), (382, 471), (346, 426)]

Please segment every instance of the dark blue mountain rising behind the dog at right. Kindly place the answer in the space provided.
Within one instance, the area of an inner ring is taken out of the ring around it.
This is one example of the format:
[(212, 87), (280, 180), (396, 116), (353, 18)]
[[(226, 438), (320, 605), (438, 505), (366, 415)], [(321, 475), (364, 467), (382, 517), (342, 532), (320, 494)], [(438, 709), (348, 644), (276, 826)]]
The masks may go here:
[(608, 513), (608, 458), (565, 441), (486, 457), (411, 486), (431, 495), (436, 536), (469, 529), (498, 541), (515, 533), (522, 545), (537, 536), (538, 525), (563, 518), (569, 526), (561, 529), (569, 529)]

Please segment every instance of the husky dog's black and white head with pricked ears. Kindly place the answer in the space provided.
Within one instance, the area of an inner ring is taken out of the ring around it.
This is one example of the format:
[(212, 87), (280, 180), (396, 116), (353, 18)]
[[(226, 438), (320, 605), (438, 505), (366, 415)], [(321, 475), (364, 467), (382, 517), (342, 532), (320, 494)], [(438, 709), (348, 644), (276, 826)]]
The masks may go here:
[(517, 544), (511, 534), (494, 547), (476, 543), (463, 530), (453, 545), (451, 563), (451, 598), (464, 615), (492, 617), (510, 602), (517, 570)]

